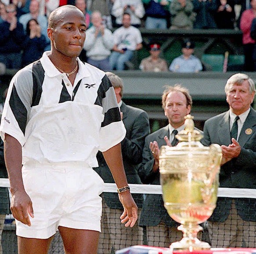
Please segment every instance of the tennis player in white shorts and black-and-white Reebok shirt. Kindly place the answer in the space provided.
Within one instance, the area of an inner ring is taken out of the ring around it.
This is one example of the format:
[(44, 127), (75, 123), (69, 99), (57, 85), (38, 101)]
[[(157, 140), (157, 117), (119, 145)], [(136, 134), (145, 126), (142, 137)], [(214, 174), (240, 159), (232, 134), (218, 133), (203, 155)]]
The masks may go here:
[(83, 63), (83, 13), (74, 6), (49, 16), (51, 51), (18, 71), (8, 89), (0, 135), (11, 185), (19, 254), (47, 254), (59, 230), (68, 254), (96, 254), (103, 180), (92, 169), (101, 150), (124, 206), (138, 217), (120, 142), (125, 128), (105, 72)]

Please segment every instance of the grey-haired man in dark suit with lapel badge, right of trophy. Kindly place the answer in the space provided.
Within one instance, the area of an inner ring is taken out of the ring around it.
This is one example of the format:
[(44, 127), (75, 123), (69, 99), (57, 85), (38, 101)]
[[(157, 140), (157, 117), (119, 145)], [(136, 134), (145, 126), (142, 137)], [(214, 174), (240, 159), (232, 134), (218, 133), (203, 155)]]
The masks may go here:
[[(250, 107), (255, 84), (234, 74), (225, 92), (230, 109), (205, 122), (201, 142), (222, 147), (220, 187), (256, 189), (256, 111)], [(208, 230), (212, 247), (255, 247), (256, 199), (219, 197)]]

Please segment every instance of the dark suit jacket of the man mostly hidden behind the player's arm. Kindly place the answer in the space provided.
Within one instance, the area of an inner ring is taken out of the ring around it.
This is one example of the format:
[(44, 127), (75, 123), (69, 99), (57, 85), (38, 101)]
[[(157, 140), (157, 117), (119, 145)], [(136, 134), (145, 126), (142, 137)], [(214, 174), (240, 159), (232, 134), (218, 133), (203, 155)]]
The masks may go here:
[[(121, 111), (123, 112), (123, 122), (126, 129), (125, 138), (121, 142), (125, 174), (128, 183), (141, 184), (137, 165), (142, 161), (145, 137), (150, 133), (149, 118), (142, 109), (128, 106), (124, 102), (121, 105)], [(94, 168), (95, 171), (102, 177), (104, 182), (114, 182), (101, 152), (98, 152), (97, 159), (99, 167)], [(143, 195), (132, 194), (132, 197), (137, 206), (142, 207)], [(104, 199), (110, 208), (123, 208), (117, 193), (104, 193)]]

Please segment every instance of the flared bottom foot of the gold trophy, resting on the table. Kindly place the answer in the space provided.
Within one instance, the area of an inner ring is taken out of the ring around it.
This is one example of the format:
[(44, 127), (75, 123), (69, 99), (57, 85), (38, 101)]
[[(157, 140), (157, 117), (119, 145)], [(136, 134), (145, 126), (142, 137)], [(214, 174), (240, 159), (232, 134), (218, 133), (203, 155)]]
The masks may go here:
[(182, 240), (179, 242), (172, 243), (170, 245), (170, 249), (173, 250), (188, 250), (188, 251), (194, 251), (194, 250), (209, 250), (211, 246), (209, 243), (201, 242), (198, 240), (198, 238), (188, 238), (183, 237)]

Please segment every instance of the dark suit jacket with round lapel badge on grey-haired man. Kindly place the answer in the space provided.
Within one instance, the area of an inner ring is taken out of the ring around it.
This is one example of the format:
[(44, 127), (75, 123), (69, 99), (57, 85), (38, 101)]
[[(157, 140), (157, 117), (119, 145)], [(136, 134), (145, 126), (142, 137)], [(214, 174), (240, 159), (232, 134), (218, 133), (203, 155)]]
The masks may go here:
[[(229, 111), (208, 119), (204, 126), (204, 138), (201, 143), (228, 146), (230, 138)], [(251, 108), (241, 129), (238, 143), (241, 153), (222, 165), (219, 174), (220, 187), (256, 189), (256, 111)], [(256, 221), (255, 199), (234, 199), (238, 215), (245, 221)], [(219, 197), (216, 209), (209, 219), (224, 222), (230, 211), (232, 198)]]

